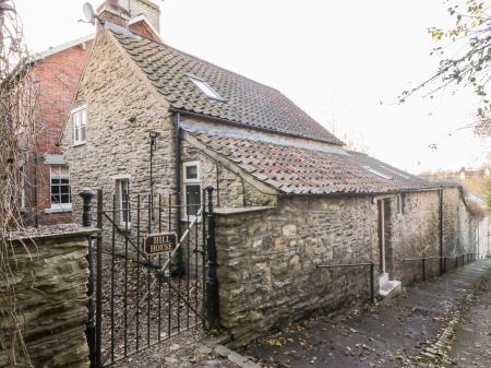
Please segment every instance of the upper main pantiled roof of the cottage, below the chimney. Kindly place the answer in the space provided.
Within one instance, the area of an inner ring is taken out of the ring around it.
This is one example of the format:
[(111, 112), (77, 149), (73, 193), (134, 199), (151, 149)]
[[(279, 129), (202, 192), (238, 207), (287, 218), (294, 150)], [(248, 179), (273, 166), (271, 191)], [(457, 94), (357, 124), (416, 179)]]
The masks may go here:
[[(175, 109), (224, 119), (247, 128), (343, 144), (277, 90), (161, 43), (113, 34)], [(205, 80), (225, 102), (208, 98), (188, 75)]]

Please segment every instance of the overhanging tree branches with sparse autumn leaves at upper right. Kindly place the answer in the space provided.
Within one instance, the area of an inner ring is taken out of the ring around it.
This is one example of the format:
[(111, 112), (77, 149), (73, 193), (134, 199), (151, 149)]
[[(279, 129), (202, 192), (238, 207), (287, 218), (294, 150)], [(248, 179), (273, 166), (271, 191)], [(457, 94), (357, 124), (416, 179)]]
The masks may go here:
[(431, 55), (440, 59), (435, 73), (414, 88), (404, 91), (399, 102), (420, 92), (433, 98), (438, 92), (455, 93), (460, 87), (472, 88), (479, 96), (476, 133), (491, 135), (491, 105), (488, 96), (491, 80), (491, 3), (481, 0), (445, 0), (450, 28), (430, 27), (436, 43)]

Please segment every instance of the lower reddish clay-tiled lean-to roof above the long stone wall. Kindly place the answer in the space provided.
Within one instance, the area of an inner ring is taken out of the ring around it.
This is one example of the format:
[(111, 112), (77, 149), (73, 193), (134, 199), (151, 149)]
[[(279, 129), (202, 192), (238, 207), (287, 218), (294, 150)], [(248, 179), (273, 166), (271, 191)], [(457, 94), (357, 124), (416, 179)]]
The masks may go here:
[[(213, 132), (191, 134), (255, 179), (283, 193), (382, 193), (438, 188), (366, 154), (336, 154)], [(371, 167), (390, 179), (370, 173)]]

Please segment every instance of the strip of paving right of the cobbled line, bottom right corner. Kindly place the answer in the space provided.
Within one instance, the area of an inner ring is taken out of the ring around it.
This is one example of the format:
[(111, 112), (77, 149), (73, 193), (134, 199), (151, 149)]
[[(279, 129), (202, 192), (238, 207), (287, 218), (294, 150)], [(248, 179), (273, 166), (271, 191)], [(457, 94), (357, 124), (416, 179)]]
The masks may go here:
[(451, 357), (457, 367), (491, 367), (491, 277), (482, 283), (456, 329)]

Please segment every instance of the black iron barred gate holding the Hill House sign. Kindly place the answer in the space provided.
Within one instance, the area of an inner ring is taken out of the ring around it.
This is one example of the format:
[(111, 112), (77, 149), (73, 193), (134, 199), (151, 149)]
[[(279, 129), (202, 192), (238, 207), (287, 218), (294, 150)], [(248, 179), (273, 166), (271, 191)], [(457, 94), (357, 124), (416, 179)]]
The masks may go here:
[[(218, 284), (213, 188), (207, 205), (180, 205), (177, 195), (105, 197), (97, 191), (98, 235), (88, 250), (87, 342), (92, 367), (100, 368), (193, 328), (215, 329)], [(205, 195), (206, 194), (206, 195)], [(92, 224), (84, 190), (83, 225)], [(112, 205), (105, 206), (110, 200)], [(189, 201), (187, 201), (189, 203)], [(176, 235), (164, 253), (144, 251), (152, 235)]]

